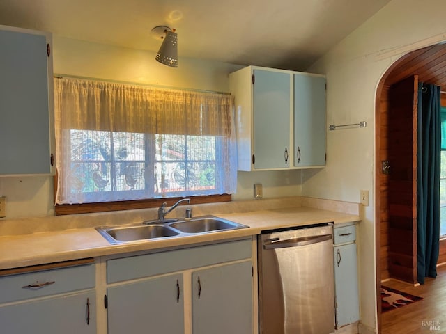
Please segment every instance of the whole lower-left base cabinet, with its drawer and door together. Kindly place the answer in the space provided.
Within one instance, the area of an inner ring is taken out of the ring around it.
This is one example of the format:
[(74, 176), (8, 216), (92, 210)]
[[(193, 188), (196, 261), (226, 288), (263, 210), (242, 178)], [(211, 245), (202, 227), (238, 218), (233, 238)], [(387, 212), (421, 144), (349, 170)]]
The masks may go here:
[(96, 333), (93, 264), (0, 277), (0, 332)]

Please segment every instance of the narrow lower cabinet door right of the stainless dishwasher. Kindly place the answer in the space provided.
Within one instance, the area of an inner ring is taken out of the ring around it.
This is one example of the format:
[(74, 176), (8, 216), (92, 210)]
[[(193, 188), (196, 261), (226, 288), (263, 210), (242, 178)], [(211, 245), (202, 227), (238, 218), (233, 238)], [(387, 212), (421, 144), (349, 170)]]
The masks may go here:
[(360, 318), (356, 257), (356, 244), (334, 247), (337, 328), (352, 324)]

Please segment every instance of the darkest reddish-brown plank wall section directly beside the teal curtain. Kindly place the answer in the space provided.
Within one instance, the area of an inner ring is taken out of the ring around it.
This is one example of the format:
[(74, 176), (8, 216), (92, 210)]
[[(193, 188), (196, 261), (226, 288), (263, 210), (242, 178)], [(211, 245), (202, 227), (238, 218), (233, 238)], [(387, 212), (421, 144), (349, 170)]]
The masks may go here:
[(390, 86), (389, 273), (417, 283), (417, 91), (413, 76)]

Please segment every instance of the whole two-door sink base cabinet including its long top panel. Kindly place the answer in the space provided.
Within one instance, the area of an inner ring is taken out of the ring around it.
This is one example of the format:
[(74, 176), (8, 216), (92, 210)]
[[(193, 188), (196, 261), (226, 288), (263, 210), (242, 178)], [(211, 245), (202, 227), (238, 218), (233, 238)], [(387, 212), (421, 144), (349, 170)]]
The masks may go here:
[(253, 333), (252, 239), (107, 260), (108, 334)]

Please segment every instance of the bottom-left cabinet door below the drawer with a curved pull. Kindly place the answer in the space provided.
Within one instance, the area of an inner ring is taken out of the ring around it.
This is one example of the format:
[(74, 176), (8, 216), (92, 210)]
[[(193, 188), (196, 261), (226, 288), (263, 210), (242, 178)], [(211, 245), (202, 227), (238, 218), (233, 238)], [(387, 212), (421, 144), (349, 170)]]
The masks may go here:
[(95, 310), (95, 292), (3, 306), (0, 307), (0, 331), (8, 334), (93, 334), (96, 333)]

